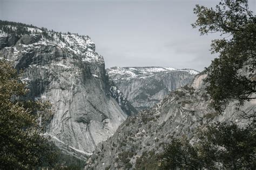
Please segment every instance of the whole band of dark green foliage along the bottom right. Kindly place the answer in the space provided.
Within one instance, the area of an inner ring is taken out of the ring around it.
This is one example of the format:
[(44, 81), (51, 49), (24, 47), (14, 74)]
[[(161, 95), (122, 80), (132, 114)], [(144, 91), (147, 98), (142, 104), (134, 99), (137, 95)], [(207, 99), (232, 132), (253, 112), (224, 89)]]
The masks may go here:
[(174, 138), (159, 154), (165, 169), (255, 169), (255, 124), (239, 128), (236, 124), (215, 123), (199, 129), (197, 143), (186, 137)]

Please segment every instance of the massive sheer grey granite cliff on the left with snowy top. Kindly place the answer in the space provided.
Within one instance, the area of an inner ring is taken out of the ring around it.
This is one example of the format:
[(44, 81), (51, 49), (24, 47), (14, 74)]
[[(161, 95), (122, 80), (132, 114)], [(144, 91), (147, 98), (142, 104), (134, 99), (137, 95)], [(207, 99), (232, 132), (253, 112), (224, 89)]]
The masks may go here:
[(90, 37), (3, 21), (0, 30), (1, 59), (24, 70), (26, 97), (52, 103), (55, 115), (44, 135), (64, 152), (90, 155), (137, 113), (109, 81)]

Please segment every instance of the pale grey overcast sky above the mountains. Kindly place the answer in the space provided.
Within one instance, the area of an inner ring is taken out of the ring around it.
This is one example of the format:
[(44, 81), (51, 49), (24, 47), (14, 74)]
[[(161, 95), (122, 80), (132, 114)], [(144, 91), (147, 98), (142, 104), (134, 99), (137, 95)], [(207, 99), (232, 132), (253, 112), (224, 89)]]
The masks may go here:
[[(0, 0), (0, 19), (91, 37), (106, 68), (163, 66), (203, 70), (215, 57), (215, 35), (200, 36), (191, 24), (196, 4), (215, 0)], [(255, 11), (255, 0), (250, 2)]]

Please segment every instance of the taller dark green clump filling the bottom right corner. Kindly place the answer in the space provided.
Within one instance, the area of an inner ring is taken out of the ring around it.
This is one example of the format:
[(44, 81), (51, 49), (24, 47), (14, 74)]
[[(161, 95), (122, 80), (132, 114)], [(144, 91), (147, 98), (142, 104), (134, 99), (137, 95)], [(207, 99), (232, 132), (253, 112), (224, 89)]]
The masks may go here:
[[(256, 168), (256, 126), (239, 128), (234, 123), (214, 123), (197, 132), (195, 145), (204, 167), (225, 169)], [(215, 167), (215, 168), (219, 168)]]

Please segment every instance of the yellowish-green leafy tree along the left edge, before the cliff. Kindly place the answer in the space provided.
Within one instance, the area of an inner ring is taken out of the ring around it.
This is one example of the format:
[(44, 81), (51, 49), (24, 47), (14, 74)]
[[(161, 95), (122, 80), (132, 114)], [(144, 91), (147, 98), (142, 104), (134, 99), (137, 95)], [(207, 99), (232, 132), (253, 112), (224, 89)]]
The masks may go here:
[(50, 105), (26, 100), (25, 84), (11, 62), (0, 60), (0, 169), (53, 166), (57, 152), (42, 137)]

